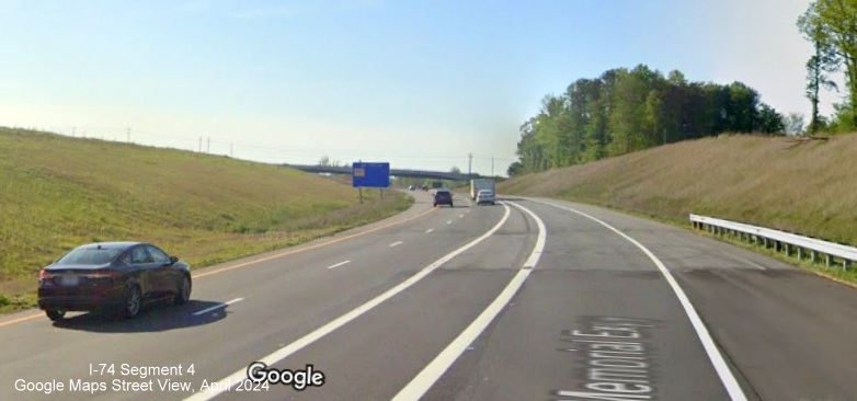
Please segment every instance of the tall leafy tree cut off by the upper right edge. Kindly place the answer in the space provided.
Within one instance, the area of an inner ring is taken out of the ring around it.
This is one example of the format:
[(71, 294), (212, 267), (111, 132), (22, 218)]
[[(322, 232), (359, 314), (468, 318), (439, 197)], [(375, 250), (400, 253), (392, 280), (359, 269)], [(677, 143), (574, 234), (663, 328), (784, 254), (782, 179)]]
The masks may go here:
[(815, 62), (821, 66), (845, 66), (847, 104), (842, 107), (849, 116), (847, 128), (857, 129), (857, 0), (816, 0), (798, 19), (801, 33), (813, 42), (822, 55), (830, 50), (836, 57)]

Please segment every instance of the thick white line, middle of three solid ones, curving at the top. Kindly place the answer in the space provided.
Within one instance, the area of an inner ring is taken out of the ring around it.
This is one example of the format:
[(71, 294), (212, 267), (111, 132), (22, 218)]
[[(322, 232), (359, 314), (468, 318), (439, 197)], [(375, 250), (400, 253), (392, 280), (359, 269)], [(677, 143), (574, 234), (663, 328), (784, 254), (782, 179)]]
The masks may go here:
[(465, 350), (467, 350), (467, 347), (472, 344), (480, 334), (482, 334), (482, 332), (485, 330), (485, 328), (488, 328), (489, 324), (491, 324), (494, 318), (496, 318), (496, 316), (503, 311), (503, 308), (509, 303), (512, 297), (515, 296), (518, 289), (521, 289), (521, 286), (524, 285), (524, 282), (527, 279), (527, 276), (529, 276), (529, 273), (533, 272), (533, 267), (535, 267), (538, 263), (538, 260), (545, 250), (545, 243), (547, 242), (547, 230), (545, 229), (545, 222), (542, 222), (541, 219), (536, 216), (536, 214), (526, 207), (511, 202), (509, 204), (526, 211), (536, 220), (539, 231), (536, 244), (533, 247), (533, 252), (524, 263), (523, 268), (518, 270), (517, 274), (512, 277), (512, 280), (510, 280), (500, 295), (494, 298), (491, 305), (489, 305), (488, 308), (485, 308), (485, 310), (483, 310), (482, 313), (480, 313), (479, 317), (477, 317), (476, 320), (473, 320), (473, 322), (461, 332), (461, 334), (458, 334), (458, 336), (453, 340), (453, 342), (449, 343), (449, 345), (447, 345), (446, 348), (441, 352), (441, 354), (438, 354), (431, 363), (428, 363), (428, 365), (426, 365), (425, 368), (423, 368), (423, 370), (416, 375), (416, 377), (411, 379), (411, 381), (408, 382), (408, 385), (405, 385), (404, 388), (402, 388), (396, 394), (396, 397), (392, 398), (393, 401), (419, 400), (421, 397), (423, 397), (428, 391), (428, 389), (431, 389), (432, 386), (437, 382), (441, 376), (443, 376), (444, 373), (446, 373), (446, 370), (453, 366), (456, 359), (461, 356)]

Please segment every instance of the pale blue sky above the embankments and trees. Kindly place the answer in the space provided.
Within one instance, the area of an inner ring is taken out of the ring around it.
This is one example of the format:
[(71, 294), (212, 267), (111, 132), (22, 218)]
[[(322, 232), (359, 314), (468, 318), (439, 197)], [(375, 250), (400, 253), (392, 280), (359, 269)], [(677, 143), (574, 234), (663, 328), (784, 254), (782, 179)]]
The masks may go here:
[(613, 68), (741, 81), (809, 121), (809, 3), (0, 0), (0, 125), (503, 175), (541, 99)]

